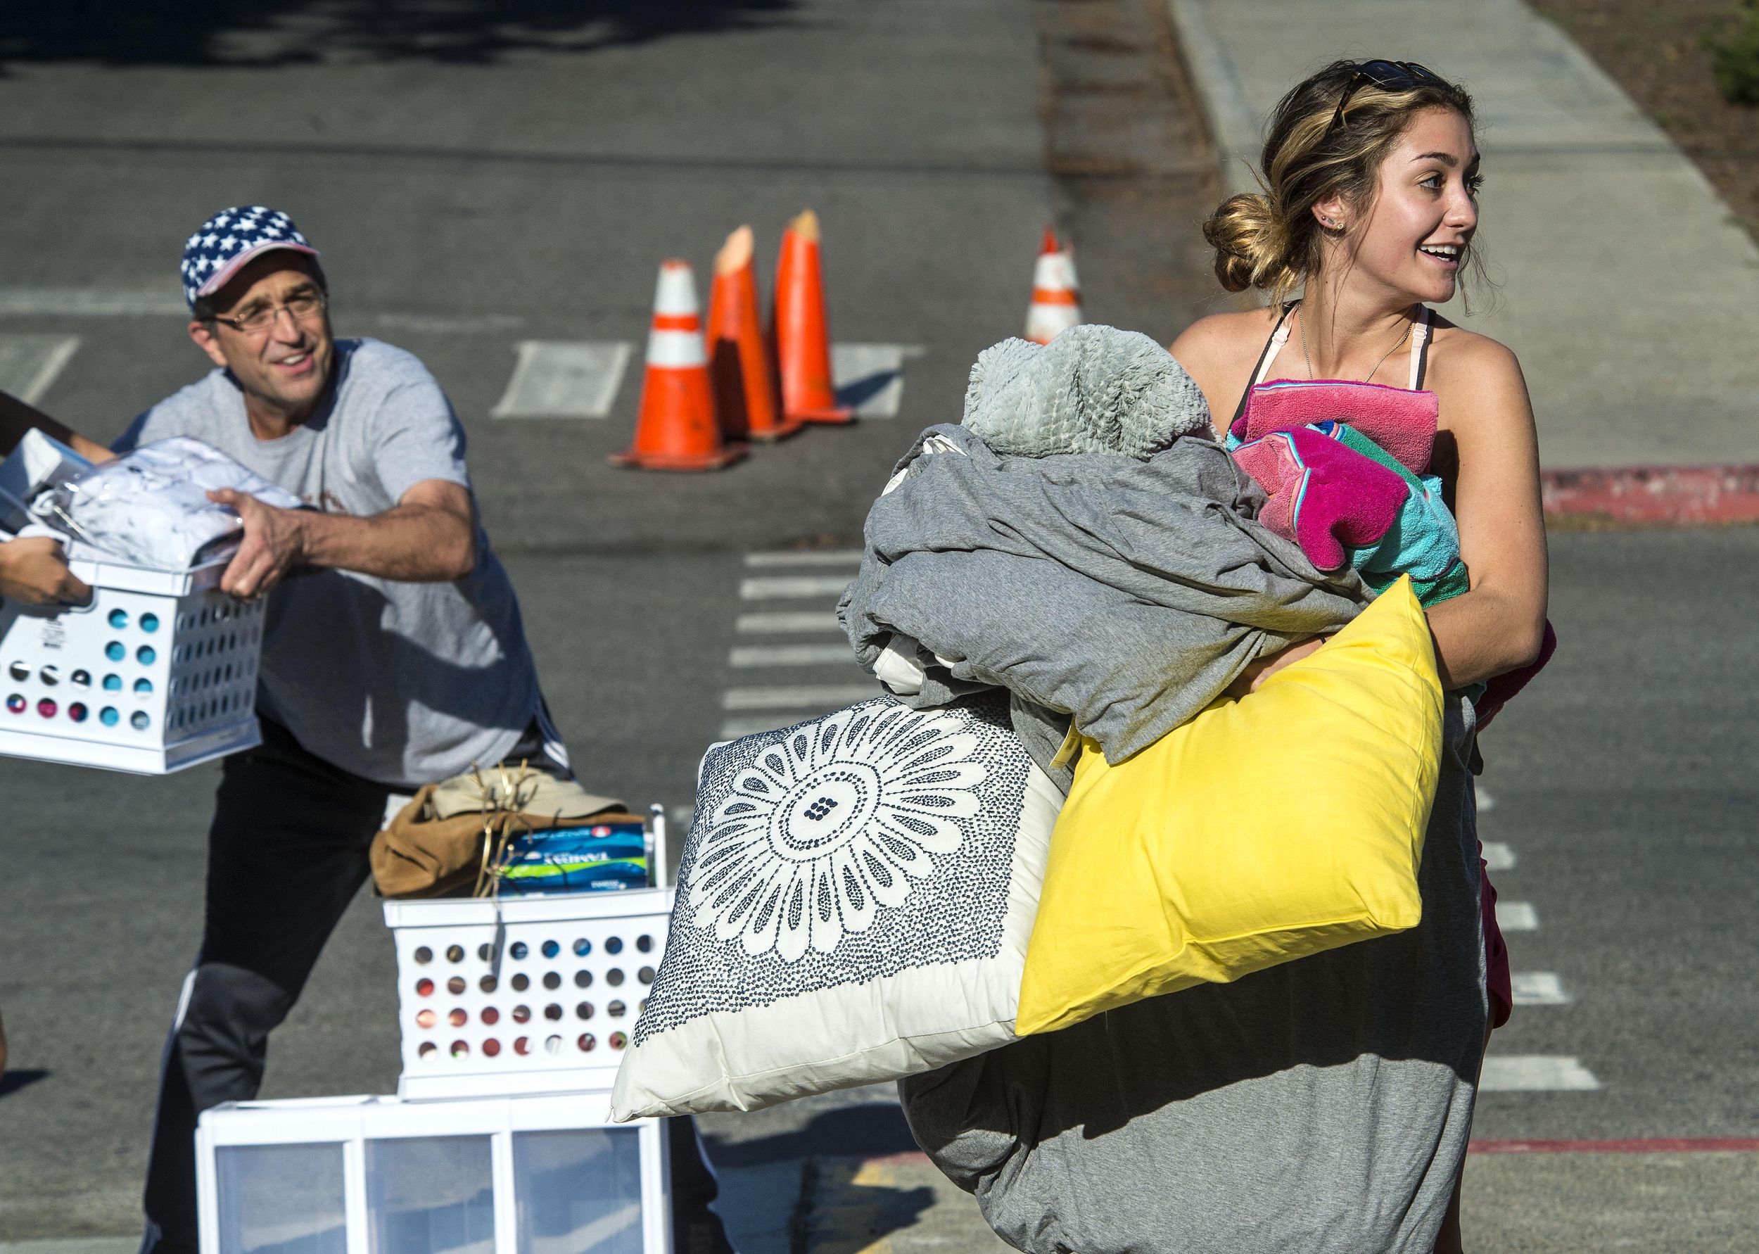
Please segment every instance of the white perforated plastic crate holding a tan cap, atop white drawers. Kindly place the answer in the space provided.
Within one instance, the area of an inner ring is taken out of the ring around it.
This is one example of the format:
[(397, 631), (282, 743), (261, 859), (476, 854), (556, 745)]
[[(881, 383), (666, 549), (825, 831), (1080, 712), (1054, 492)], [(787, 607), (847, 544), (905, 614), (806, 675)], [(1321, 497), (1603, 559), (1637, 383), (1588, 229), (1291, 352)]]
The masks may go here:
[[(653, 865), (665, 865), (663, 837)], [(672, 892), (387, 900), (398, 1094), (610, 1089), (660, 969)]]

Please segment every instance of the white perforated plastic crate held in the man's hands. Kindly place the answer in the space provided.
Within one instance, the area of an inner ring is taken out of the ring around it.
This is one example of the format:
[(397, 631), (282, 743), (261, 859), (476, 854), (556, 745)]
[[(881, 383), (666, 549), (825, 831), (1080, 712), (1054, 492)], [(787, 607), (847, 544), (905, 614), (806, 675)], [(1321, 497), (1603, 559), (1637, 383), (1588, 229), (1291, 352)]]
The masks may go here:
[(0, 755), (165, 776), (262, 740), (262, 601), (218, 591), (225, 563), (69, 565), (90, 605), (0, 607)]

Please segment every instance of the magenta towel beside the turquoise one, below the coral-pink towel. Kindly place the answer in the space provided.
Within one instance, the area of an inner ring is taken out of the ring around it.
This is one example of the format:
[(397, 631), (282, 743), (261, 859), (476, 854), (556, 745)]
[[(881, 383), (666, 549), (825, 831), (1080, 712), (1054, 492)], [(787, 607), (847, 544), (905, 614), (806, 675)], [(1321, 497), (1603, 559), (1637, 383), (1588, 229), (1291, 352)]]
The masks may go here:
[(1244, 443), (1233, 459), (1270, 498), (1258, 521), (1319, 570), (1347, 566), (1349, 550), (1384, 536), (1405, 503), (1397, 473), (1307, 427)]

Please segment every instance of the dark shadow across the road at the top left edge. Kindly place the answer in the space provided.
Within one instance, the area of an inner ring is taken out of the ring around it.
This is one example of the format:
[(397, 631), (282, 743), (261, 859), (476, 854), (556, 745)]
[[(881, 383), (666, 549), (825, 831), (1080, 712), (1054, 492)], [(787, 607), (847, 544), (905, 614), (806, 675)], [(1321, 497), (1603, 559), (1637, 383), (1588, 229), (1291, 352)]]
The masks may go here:
[[(491, 63), (770, 26), (799, 0), (55, 0), (0, 5), (0, 67)], [(4, 70), (0, 70), (4, 72)]]

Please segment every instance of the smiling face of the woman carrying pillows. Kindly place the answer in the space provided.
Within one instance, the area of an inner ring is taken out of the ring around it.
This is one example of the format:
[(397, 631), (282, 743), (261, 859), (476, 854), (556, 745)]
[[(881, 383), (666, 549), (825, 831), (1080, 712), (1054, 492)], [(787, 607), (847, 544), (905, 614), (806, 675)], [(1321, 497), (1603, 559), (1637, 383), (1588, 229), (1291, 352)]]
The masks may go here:
[[(1478, 230), (1478, 146), (1453, 109), (1425, 109), (1381, 162), (1379, 188), (1344, 264), (1404, 301), (1453, 299)], [(1346, 209), (1347, 213), (1347, 209)]]

